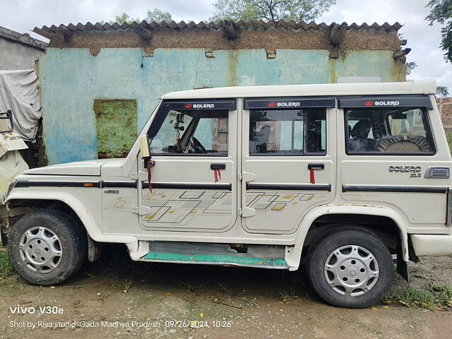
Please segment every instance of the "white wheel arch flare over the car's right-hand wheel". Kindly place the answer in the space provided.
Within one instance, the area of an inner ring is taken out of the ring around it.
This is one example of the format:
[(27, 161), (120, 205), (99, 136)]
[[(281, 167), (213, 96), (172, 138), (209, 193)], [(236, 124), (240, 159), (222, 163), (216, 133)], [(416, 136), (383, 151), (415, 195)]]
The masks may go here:
[(326, 205), (310, 210), (309, 213), (304, 215), (304, 218), (300, 222), (297, 236), (295, 237), (295, 246), (285, 256), (285, 259), (290, 266), (290, 270), (297, 270), (299, 267), (304, 239), (306, 239), (309, 228), (314, 220), (322, 215), (328, 214), (362, 214), (390, 218), (398, 227), (402, 239), (403, 260), (408, 262), (408, 234), (406, 231), (405, 220), (403, 220), (402, 216), (395, 210), (380, 206)]

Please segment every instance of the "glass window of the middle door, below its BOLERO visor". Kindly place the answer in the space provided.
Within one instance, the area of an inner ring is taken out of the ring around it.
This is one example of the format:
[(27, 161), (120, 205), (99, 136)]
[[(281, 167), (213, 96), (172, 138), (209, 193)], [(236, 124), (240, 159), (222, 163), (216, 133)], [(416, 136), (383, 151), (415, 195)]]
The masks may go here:
[(250, 109), (250, 155), (326, 154), (326, 109)]

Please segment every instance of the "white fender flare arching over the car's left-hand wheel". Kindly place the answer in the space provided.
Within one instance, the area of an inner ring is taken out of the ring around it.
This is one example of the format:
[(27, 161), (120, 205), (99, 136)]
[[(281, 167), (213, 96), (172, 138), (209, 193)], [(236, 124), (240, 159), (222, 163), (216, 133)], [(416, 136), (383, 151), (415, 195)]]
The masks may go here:
[[(138, 239), (136, 237), (132, 237), (129, 235), (114, 235), (114, 234), (102, 234), (100, 232), (100, 226), (96, 225), (96, 222), (91, 215), (88, 208), (86, 208), (83, 203), (78, 200), (75, 196), (71, 194), (67, 194), (65, 192), (40, 192), (40, 191), (12, 191), (8, 197), (6, 198), (5, 204), (11, 201), (20, 201), (20, 200), (49, 200), (49, 201), (61, 201), (62, 203), (66, 203), (67, 206), (72, 208), (74, 213), (78, 215), (83, 226), (85, 226), (86, 232), (88, 232), (91, 239), (96, 242), (117, 242), (121, 244), (129, 243), (129, 242), (137, 242)], [(100, 222), (99, 222), (100, 224)]]

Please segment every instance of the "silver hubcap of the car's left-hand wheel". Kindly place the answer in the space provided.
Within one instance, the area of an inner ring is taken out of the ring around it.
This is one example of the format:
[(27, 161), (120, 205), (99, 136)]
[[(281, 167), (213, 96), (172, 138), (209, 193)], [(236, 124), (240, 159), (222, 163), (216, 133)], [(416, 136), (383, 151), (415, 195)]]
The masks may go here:
[(59, 237), (47, 227), (32, 227), (20, 238), (20, 258), (34, 272), (52, 272), (62, 254)]

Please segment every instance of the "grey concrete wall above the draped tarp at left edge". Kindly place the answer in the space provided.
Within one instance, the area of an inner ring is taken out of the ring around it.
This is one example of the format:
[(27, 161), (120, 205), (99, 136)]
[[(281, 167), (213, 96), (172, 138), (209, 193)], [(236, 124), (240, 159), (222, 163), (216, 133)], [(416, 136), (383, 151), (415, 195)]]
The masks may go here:
[(0, 37), (0, 69), (34, 69), (44, 52), (20, 42)]

